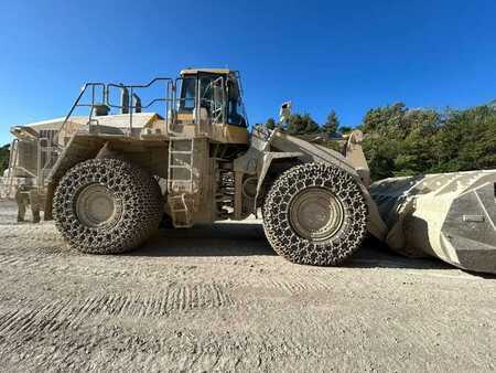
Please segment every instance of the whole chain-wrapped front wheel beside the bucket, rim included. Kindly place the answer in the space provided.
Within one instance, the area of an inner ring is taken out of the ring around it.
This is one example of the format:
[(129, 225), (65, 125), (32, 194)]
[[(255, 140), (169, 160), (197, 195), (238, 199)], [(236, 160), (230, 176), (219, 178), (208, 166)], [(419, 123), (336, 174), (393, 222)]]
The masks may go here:
[(358, 182), (332, 164), (305, 163), (282, 173), (263, 206), (273, 249), (300, 264), (334, 266), (367, 232), (367, 204)]

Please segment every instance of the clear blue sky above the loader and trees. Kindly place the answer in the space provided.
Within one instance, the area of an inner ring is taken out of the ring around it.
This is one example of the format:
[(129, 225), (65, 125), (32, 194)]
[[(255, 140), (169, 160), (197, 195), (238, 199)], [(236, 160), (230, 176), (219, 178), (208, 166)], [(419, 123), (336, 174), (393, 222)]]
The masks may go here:
[(63, 116), (86, 81), (143, 83), (186, 66), (241, 71), (250, 122), (281, 102), (343, 125), (398, 100), (496, 98), (496, 1), (2, 1), (0, 142)]

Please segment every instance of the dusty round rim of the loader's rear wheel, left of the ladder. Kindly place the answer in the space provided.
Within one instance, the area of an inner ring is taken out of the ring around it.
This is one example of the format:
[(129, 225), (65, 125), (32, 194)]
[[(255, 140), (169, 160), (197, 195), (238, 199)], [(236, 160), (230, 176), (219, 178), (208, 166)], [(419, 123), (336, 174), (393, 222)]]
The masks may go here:
[(76, 200), (76, 215), (79, 221), (90, 227), (108, 225), (121, 213), (121, 205), (110, 192), (100, 184), (85, 186)]

